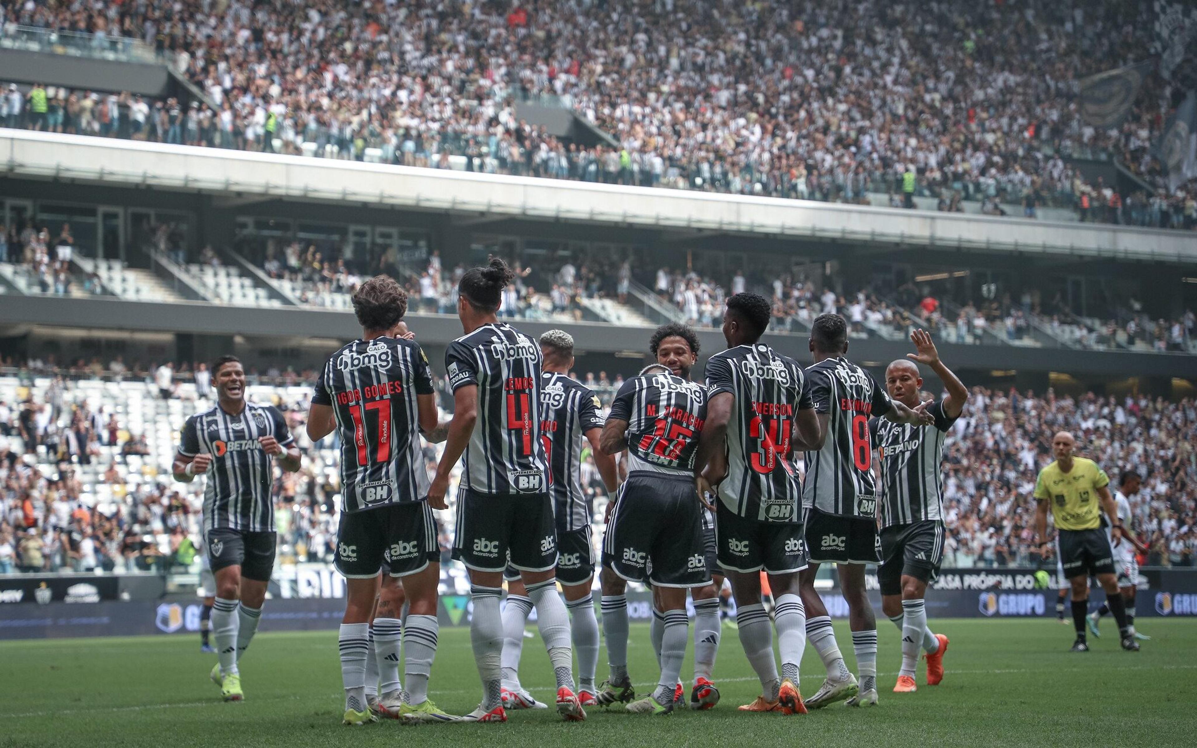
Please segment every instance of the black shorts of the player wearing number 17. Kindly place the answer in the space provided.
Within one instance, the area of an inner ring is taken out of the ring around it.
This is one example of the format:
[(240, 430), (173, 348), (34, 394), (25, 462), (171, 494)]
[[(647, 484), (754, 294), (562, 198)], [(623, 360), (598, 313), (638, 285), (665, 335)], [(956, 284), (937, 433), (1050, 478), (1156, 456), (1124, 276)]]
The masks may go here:
[(375, 577), (384, 562), (391, 577), (406, 577), (439, 560), (437, 521), (427, 501), (341, 512), (335, 565), (346, 579)]

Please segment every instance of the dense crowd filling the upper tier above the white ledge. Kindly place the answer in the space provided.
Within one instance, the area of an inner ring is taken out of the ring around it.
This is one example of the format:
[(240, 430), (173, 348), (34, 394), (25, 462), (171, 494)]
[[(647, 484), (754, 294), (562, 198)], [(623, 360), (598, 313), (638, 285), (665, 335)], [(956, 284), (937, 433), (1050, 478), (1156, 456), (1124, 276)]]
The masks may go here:
[[(905, 207), (929, 195), (940, 209), (979, 200), (1032, 218), (1064, 206), (1192, 229), (1197, 190), (1165, 189), (1152, 148), (1172, 91), (1149, 78), (1108, 129), (1077, 105), (1080, 78), (1142, 61), (1152, 12), (1101, 0), (2, 0), (0, 29), (140, 38), (212, 103), (40, 87), (5, 97), (2, 114), (165, 142), (311, 144), (436, 168), (451, 156), (480, 171), (846, 202), (881, 193)], [(615, 144), (559, 141), (518, 118), (525, 99), (571, 107)], [(1118, 159), (1152, 189), (1088, 183), (1070, 157)]]

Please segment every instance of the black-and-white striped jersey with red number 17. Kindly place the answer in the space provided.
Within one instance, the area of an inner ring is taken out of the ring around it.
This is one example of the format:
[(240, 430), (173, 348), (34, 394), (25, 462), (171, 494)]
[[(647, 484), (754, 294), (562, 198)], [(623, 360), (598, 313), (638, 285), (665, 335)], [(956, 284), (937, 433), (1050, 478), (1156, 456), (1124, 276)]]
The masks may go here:
[(336, 416), (342, 511), (427, 498), (417, 396), (432, 393), (429, 359), (412, 340), (354, 340), (324, 363), (311, 401)]

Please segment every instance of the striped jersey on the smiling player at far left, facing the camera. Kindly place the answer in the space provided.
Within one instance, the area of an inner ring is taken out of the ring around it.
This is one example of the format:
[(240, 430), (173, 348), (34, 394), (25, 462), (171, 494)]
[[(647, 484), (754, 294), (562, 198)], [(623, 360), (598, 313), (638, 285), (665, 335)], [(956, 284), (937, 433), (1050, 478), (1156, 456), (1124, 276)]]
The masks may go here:
[(203, 485), (205, 530), (274, 531), (274, 464), (259, 443), (262, 437), (274, 437), (284, 448), (294, 444), (274, 406), (247, 400), (237, 415), (217, 405), (187, 419), (178, 454), (212, 455)]

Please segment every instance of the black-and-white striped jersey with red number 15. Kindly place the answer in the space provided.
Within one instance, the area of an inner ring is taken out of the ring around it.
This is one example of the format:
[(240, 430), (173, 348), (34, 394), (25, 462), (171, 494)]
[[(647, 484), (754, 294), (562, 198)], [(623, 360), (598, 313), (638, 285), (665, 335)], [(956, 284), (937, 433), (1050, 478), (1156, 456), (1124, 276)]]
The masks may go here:
[(663, 371), (632, 377), (619, 388), (607, 418), (627, 421), (630, 473), (692, 475), (706, 388)]

